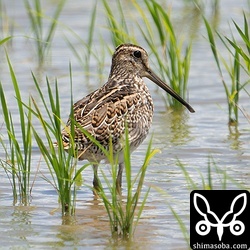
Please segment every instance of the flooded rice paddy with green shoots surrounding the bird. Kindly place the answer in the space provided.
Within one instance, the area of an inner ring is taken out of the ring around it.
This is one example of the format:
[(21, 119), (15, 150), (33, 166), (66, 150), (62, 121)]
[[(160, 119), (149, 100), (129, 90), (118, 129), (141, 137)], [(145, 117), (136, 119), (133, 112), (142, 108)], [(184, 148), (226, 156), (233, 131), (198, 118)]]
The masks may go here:
[[(249, 190), (249, 4), (176, 2), (1, 1), (3, 247), (187, 249), (193, 189)], [(63, 150), (60, 131), (122, 42), (146, 48), (196, 113), (148, 82), (151, 135), (125, 149), (122, 196), (110, 158), (95, 197), (90, 164)]]

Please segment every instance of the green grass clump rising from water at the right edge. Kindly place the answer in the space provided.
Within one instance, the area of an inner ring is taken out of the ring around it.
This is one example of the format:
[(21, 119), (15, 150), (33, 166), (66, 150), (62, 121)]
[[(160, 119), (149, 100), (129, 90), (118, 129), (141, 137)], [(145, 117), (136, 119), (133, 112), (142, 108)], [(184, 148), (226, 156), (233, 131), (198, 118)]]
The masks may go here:
[[(223, 46), (227, 49), (228, 59), (225, 59), (220, 53), (216, 46), (214, 32), (206, 20), (204, 18), (205, 26), (207, 29), (208, 39), (210, 42), (210, 48), (212, 50), (216, 66), (219, 71), (220, 79), (222, 81), (226, 98), (227, 98), (227, 106), (228, 106), (228, 124), (229, 125), (237, 125), (238, 124), (238, 109), (239, 109), (239, 98), (240, 91), (245, 88), (245, 86), (250, 82), (246, 80), (242, 82), (241, 74), (246, 72), (249, 75), (249, 61), (250, 58), (247, 53), (244, 52), (243, 47), (240, 45), (240, 42), (237, 42), (234, 36), (232, 38), (228, 38), (226, 36), (222, 36), (219, 32), (216, 32), (217, 37), (222, 42)], [(243, 42), (245, 42), (245, 46), (248, 50), (250, 50), (249, 44), (249, 30), (248, 30), (248, 22), (246, 16), (244, 14), (244, 30), (241, 30), (239, 26), (233, 21), (239, 35), (241, 36)], [(240, 56), (243, 58), (246, 65), (243, 65), (240, 60)], [(222, 68), (224, 66), (224, 68)], [(226, 72), (226, 73), (225, 73)], [(225, 76), (226, 74), (226, 76)], [(230, 79), (230, 83), (225, 80), (227, 77)]]

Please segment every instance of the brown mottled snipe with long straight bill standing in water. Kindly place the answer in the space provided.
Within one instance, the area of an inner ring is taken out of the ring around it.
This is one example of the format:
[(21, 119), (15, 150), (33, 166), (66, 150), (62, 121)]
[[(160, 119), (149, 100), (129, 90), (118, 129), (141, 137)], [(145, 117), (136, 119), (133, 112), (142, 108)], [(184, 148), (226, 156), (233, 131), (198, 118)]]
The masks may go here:
[(109, 150), (111, 140), (113, 154), (118, 157), (116, 189), (120, 192), (124, 169), (125, 128), (128, 130), (130, 151), (133, 152), (147, 137), (152, 124), (154, 105), (149, 89), (143, 81), (144, 77), (177, 99), (191, 113), (195, 112), (150, 69), (146, 50), (134, 44), (119, 45), (112, 56), (107, 82), (73, 105), (73, 115), (61, 131), (64, 149), (69, 152), (73, 118), (75, 157), (78, 160), (94, 162), (93, 190), (97, 192), (100, 190), (98, 166), (101, 161), (107, 162), (107, 158), (103, 150), (83, 133), (83, 130), (106, 150)]

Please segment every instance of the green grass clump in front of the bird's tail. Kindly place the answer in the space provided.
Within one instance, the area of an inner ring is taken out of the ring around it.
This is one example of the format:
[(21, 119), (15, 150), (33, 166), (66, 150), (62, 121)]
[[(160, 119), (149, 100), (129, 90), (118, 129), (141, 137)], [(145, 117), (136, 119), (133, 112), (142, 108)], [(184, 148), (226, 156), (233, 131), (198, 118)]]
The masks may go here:
[[(60, 97), (57, 81), (55, 82), (55, 94), (53, 94), (51, 84), (47, 79), (46, 95), (48, 94), (49, 100), (46, 100), (34, 74), (33, 79), (42, 102), (42, 107), (45, 108), (46, 111), (45, 114), (43, 114), (40, 105), (38, 105), (36, 100), (32, 98), (32, 103), (34, 105), (32, 113), (39, 119), (40, 124), (42, 125), (45, 140), (44, 136), (39, 135), (34, 127), (32, 127), (33, 134), (52, 177), (52, 180), (49, 178), (45, 179), (52, 184), (58, 193), (62, 214), (74, 215), (77, 195), (76, 191), (77, 188), (82, 185), (81, 172), (90, 164), (86, 163), (80, 168), (77, 168), (77, 158), (73, 157), (75, 156), (73, 126), (71, 126), (70, 131), (71, 147), (68, 149), (69, 154), (65, 151), (61, 138), (61, 128), (62, 126), (65, 126), (65, 124), (61, 120)], [(72, 100), (73, 98), (71, 94), (71, 104)], [(73, 105), (71, 105), (71, 107), (73, 107)], [(45, 117), (48, 117), (48, 121)]]

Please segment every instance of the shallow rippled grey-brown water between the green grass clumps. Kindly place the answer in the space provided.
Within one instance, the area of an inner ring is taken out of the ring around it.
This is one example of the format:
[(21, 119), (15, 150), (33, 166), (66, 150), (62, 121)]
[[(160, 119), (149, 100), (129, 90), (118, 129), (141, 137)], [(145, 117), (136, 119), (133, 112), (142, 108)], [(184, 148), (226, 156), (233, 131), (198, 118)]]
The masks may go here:
[[(34, 41), (24, 37), (32, 36), (30, 24), (25, 13), (22, 1), (2, 1), (9, 22), (13, 22), (15, 38), (12, 45), (7, 48), (9, 57), (15, 69), (23, 100), (28, 100), (32, 94), (36, 97), (31, 71), (38, 74)], [(184, 1), (169, 2), (172, 5), (172, 17), (177, 24), (191, 23), (192, 11), (184, 8)], [(233, 18), (239, 25), (242, 24), (242, 10), (247, 11), (247, 1), (222, 0), (217, 25), (219, 30), (226, 34), (229, 32), (228, 22)], [(45, 12), (53, 9), (54, 1), (46, 1)], [(73, 29), (76, 33), (85, 34), (92, 4), (90, 1), (68, 1), (60, 17), (60, 22)], [(110, 42), (103, 22), (103, 12), (99, 6), (97, 28)], [(206, 14), (212, 16), (210, 6), (207, 4)], [(187, 184), (178, 160), (185, 165), (186, 170), (194, 180), (197, 188), (202, 188), (201, 174), (207, 181), (209, 156), (212, 156), (217, 167), (226, 171), (228, 176), (244, 187), (250, 187), (249, 173), (249, 123), (240, 114), (238, 131), (232, 128), (230, 132), (227, 125), (227, 106), (223, 86), (218, 77), (212, 54), (207, 40), (204, 38), (205, 30), (197, 20), (191, 26), (195, 37), (192, 54), (192, 65), (189, 80), (189, 101), (196, 113), (173, 115), (165, 109), (164, 101), (160, 97), (161, 91), (147, 81), (155, 103), (155, 115), (151, 129), (153, 146), (161, 150), (151, 161), (145, 180), (144, 192), (148, 186), (150, 191), (146, 208), (135, 231), (131, 242), (122, 242), (112, 239), (108, 217), (102, 203), (93, 197), (91, 190), (83, 186), (78, 192), (76, 216), (62, 219), (58, 208), (57, 194), (53, 187), (42, 179), (42, 175), (49, 176), (46, 165), (41, 162), (41, 154), (34, 146), (34, 172), (39, 166), (38, 175), (32, 188), (31, 205), (28, 207), (13, 206), (11, 186), (5, 172), (0, 169), (0, 242), (3, 248), (121, 248), (131, 247), (139, 249), (187, 249), (180, 227), (174, 218), (170, 205), (189, 228), (189, 194), (190, 186)], [(94, 84), (95, 76), (90, 77), (91, 84), (84, 85), (84, 72), (65, 42), (65, 36), (74, 41), (72, 33), (64, 25), (59, 25), (51, 53), (41, 74), (41, 82), (45, 76), (49, 79), (57, 78), (62, 96), (62, 110), (65, 121), (68, 117), (70, 105), (69, 62), (72, 63), (74, 99), (78, 100), (89, 91), (96, 89), (99, 83)], [(197, 25), (197, 26), (196, 26)], [(3, 23), (2, 23), (3, 26)], [(178, 26), (183, 33), (187, 32), (185, 26)], [(98, 36), (95, 37), (95, 48), (98, 49)], [(110, 42), (111, 44), (111, 42)], [(80, 46), (76, 44), (77, 48)], [(145, 47), (145, 46), (144, 46)], [(145, 47), (148, 49), (147, 47)], [(222, 48), (223, 52), (223, 48)], [(2, 57), (4, 51), (1, 49)], [(110, 67), (110, 56), (106, 55), (105, 78)], [(96, 70), (95, 62), (90, 67)], [(157, 66), (156, 66), (157, 68)], [(0, 72), (10, 109), (12, 110), (15, 125), (16, 104), (11, 79), (5, 60), (0, 61)], [(94, 82), (94, 83), (93, 83)], [(41, 83), (42, 84), (42, 83)], [(41, 85), (44, 90), (45, 85)], [(250, 110), (249, 97), (242, 93), (240, 106), (246, 111)], [(1, 117), (0, 113), (0, 118)], [(7, 137), (3, 129), (0, 130), (3, 140)], [(17, 134), (20, 137), (21, 134)], [(150, 136), (149, 136), (150, 137)], [(133, 153), (133, 174), (135, 175), (143, 163), (145, 150), (149, 138)], [(1, 152), (0, 157), (4, 157)], [(79, 164), (80, 165), (80, 164)], [(102, 166), (108, 173), (108, 166)], [(214, 188), (221, 188), (220, 175), (212, 167)], [(92, 182), (92, 170), (87, 169), (83, 174), (87, 184)], [(32, 181), (34, 175), (32, 176)], [(158, 189), (162, 189), (159, 192)], [(236, 183), (228, 179), (228, 189), (239, 188)]]

